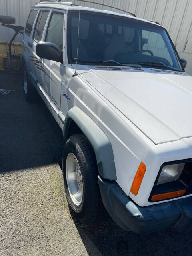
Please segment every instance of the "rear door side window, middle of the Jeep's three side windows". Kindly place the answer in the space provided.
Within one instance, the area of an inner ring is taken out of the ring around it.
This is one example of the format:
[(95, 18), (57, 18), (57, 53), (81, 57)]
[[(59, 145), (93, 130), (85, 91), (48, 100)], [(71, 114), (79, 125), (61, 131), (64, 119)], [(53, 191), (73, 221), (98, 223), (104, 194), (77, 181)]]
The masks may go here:
[(38, 19), (36, 21), (36, 26), (35, 26), (35, 29), (34, 29), (33, 39), (36, 39), (37, 41), (41, 40), (48, 15), (49, 15), (48, 11), (41, 11), (40, 12), (40, 14), (38, 16)]

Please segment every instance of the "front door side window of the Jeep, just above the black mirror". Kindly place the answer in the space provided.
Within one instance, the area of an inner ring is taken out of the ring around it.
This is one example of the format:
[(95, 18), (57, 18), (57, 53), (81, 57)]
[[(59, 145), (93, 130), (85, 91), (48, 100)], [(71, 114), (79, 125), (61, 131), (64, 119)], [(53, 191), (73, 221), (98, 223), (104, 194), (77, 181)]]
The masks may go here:
[(53, 12), (45, 38), (45, 42), (56, 44), (61, 50), (63, 50), (63, 23), (64, 14)]

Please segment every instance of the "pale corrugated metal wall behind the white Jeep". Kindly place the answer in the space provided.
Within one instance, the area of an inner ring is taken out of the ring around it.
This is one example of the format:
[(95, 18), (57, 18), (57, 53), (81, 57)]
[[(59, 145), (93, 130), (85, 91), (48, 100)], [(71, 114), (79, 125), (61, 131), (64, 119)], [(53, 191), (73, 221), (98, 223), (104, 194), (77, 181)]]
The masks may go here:
[[(24, 26), (30, 6), (38, 0), (0, 0), (0, 14), (14, 16), (16, 24)], [(99, 4), (106, 4), (122, 10), (133, 12), (139, 18), (157, 20), (164, 26), (181, 58), (186, 58), (186, 72), (192, 74), (192, 0), (89, 0), (93, 3), (81, 2), (82, 6), (114, 10)], [(70, 2), (70, 1), (68, 1)], [(72, 0), (79, 4), (77, 0)], [(116, 12), (120, 12), (116, 10)], [(122, 12), (124, 13), (124, 12)], [(0, 40), (9, 40), (13, 32), (0, 26)], [(17, 38), (21, 41), (21, 36)]]

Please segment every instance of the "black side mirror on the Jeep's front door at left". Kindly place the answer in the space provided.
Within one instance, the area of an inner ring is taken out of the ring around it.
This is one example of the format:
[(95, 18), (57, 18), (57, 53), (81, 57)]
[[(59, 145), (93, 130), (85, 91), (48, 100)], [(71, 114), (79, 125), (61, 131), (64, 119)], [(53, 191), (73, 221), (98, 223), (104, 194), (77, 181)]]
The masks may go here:
[(58, 46), (50, 42), (38, 42), (36, 45), (36, 54), (46, 60), (63, 62), (62, 52)]

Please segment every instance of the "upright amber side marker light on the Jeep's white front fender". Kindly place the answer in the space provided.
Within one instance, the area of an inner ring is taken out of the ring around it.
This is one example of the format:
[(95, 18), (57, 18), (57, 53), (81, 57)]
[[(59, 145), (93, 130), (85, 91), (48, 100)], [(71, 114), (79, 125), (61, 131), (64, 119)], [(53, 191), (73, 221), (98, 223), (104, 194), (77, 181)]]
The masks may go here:
[(138, 194), (139, 188), (141, 186), (141, 182), (143, 180), (144, 174), (146, 171), (146, 166), (143, 162), (140, 163), (140, 166), (137, 170), (137, 173), (135, 175), (132, 187), (131, 187), (131, 192), (132, 194), (134, 194), (135, 196)]

